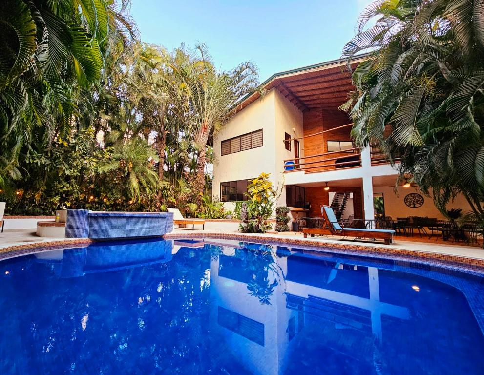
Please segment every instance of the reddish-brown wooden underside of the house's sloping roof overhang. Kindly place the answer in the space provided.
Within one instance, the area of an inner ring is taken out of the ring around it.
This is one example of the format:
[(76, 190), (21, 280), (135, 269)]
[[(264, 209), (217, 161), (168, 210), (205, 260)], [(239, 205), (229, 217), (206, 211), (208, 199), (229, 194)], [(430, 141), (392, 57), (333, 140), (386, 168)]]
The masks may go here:
[[(355, 69), (364, 58), (362, 56), (353, 60), (351, 69)], [(276, 88), (302, 112), (312, 109), (337, 109), (347, 101), (348, 92), (355, 88), (351, 83), (347, 62), (343, 60), (277, 73), (262, 83), (262, 87), (266, 92)], [(235, 111), (241, 111), (259, 98), (258, 92), (247, 95)]]

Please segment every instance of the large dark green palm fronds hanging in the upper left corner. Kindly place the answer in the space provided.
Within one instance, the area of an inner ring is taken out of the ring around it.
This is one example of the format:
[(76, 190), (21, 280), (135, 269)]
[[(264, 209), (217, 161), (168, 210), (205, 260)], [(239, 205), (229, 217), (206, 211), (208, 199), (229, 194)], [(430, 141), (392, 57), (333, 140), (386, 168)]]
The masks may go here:
[(22, 147), (32, 127), (47, 145), (76, 115), (81, 89), (96, 83), (110, 52), (136, 37), (115, 0), (3, 0), (0, 2), (0, 180), (18, 178)]

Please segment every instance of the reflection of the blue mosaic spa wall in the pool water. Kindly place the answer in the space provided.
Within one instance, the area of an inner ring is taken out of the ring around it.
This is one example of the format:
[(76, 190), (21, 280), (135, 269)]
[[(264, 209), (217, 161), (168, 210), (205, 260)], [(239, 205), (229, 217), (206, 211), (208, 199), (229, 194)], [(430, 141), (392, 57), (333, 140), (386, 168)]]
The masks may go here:
[(53, 264), (61, 277), (79, 277), (166, 263), (171, 260), (172, 249), (173, 242), (163, 240), (96, 242), (85, 248), (39, 252), (35, 258)]

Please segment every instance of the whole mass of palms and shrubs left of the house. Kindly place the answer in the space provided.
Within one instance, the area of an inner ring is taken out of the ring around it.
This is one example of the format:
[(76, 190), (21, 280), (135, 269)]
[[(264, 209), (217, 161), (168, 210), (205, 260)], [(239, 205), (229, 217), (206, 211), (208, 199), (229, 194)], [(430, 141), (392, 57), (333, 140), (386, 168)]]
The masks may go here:
[[(0, 1), (0, 194), (9, 213), (56, 208), (232, 213), (202, 202), (207, 141), (256, 88), (205, 46), (137, 40), (129, 0)], [(16, 193), (17, 192), (17, 193)]]

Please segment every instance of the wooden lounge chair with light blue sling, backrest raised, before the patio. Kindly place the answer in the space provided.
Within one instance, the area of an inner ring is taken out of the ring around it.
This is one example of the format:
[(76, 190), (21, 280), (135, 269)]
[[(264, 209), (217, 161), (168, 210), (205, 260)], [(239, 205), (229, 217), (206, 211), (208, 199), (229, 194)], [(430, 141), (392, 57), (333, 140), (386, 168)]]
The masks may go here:
[(330, 234), (341, 237), (355, 237), (356, 238), (370, 238), (372, 240), (382, 239), (385, 244), (389, 245), (393, 242), (393, 235), (395, 230), (391, 229), (360, 229), (360, 228), (343, 228), (338, 223), (333, 209), (329, 206), (321, 207), (321, 213), (324, 218), (324, 225), (322, 228), (304, 228), (302, 230), (304, 238), (310, 234)]

